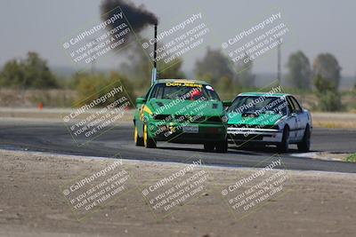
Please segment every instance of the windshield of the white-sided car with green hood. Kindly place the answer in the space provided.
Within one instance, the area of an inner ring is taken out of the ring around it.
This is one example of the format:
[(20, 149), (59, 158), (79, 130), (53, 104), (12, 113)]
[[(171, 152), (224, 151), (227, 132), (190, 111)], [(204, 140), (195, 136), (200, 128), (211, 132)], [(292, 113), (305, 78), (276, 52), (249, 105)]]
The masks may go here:
[(238, 96), (228, 112), (287, 115), (287, 100), (285, 97)]

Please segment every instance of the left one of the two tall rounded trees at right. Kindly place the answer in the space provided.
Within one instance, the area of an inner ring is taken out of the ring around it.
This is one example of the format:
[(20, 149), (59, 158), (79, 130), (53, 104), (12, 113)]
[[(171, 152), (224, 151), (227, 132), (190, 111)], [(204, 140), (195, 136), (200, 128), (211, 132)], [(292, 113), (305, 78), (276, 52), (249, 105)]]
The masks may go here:
[(303, 51), (296, 51), (289, 55), (287, 68), (289, 70), (287, 80), (293, 87), (306, 90), (311, 89), (311, 63)]

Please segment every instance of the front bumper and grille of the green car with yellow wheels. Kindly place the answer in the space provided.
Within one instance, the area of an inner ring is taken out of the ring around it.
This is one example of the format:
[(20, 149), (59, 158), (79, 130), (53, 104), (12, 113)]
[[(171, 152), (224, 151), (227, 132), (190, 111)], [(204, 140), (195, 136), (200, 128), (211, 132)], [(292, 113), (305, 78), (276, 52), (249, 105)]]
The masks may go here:
[(162, 124), (149, 123), (150, 138), (156, 141), (202, 144), (226, 139), (227, 130), (223, 123)]

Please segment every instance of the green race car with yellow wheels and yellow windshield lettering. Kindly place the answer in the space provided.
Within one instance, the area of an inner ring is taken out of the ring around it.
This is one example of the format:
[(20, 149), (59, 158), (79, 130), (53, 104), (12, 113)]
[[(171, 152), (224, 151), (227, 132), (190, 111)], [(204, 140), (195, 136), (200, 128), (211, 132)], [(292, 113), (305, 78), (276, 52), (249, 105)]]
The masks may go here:
[(158, 80), (145, 97), (136, 99), (134, 142), (148, 148), (158, 141), (204, 144), (206, 151), (225, 153), (228, 102), (224, 103), (208, 83)]

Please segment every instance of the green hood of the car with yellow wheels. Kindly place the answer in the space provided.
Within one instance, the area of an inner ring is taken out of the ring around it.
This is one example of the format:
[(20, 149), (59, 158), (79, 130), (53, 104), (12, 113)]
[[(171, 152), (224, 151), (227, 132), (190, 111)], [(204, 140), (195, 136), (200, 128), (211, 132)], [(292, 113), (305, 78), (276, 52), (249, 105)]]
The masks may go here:
[(150, 99), (148, 104), (155, 115), (224, 115), (223, 103), (218, 100)]

